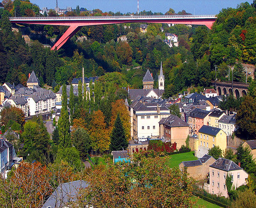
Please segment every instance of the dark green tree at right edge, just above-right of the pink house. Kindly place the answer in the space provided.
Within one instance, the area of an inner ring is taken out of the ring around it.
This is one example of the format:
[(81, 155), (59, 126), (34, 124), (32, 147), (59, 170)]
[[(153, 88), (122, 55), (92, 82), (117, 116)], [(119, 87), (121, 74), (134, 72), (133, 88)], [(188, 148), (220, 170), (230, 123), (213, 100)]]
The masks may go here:
[(241, 168), (244, 168), (248, 173), (255, 173), (256, 163), (252, 158), (250, 148), (240, 145), (236, 150), (236, 158), (237, 161), (241, 163)]

